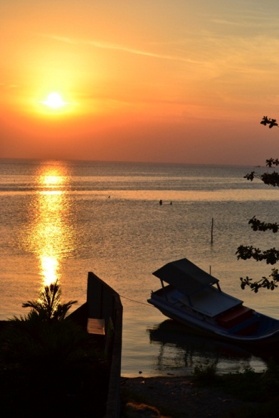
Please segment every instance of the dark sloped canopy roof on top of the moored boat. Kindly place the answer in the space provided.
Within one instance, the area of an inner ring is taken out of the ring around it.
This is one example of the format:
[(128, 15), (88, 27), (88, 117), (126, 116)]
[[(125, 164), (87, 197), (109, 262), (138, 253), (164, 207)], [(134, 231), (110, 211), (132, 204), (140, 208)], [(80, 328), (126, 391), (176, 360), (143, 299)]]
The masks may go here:
[(152, 274), (189, 296), (205, 286), (219, 282), (217, 278), (201, 270), (186, 258), (167, 263)]

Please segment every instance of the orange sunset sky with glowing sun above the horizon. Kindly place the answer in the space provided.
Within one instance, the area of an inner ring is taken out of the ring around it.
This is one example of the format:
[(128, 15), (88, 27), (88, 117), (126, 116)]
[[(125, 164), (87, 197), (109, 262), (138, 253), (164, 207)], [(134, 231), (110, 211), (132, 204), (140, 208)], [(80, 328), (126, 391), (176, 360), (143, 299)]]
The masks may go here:
[(0, 27), (0, 157), (279, 157), (278, 0), (1, 0)]

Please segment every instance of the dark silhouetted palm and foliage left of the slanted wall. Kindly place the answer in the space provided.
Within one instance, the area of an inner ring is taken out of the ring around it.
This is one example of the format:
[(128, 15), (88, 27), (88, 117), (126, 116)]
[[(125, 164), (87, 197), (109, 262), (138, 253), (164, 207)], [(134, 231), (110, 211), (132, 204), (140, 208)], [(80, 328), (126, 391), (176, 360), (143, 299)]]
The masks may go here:
[(58, 283), (27, 315), (6, 321), (0, 333), (0, 402), (5, 417), (103, 417), (109, 379), (104, 348), (68, 317), (76, 301), (61, 303)]

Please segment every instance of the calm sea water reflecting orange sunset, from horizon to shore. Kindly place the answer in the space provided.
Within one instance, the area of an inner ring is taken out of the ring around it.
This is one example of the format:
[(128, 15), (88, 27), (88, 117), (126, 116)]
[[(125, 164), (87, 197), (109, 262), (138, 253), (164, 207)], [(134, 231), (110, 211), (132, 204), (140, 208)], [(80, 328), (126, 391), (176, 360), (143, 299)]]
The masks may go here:
[(279, 318), (278, 291), (259, 296), (239, 286), (241, 276), (260, 278), (269, 269), (237, 261), (238, 245), (278, 246), (276, 235), (248, 227), (254, 215), (278, 221), (278, 191), (243, 179), (251, 170), (0, 160), (0, 319), (26, 313), (21, 304), (56, 279), (65, 301), (81, 305), (93, 271), (122, 298), (122, 375), (184, 375), (213, 360), (219, 372), (262, 370), (260, 357), (191, 336), (147, 304), (160, 286), (152, 271), (186, 257), (224, 291)]

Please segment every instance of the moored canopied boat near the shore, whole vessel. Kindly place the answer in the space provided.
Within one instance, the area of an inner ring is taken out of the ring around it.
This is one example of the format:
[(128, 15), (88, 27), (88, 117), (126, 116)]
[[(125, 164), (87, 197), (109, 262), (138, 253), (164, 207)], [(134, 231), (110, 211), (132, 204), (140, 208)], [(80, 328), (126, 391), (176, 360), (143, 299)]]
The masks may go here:
[(219, 279), (186, 258), (152, 273), (161, 288), (147, 302), (191, 331), (232, 343), (279, 343), (279, 320), (258, 313), (224, 293)]

